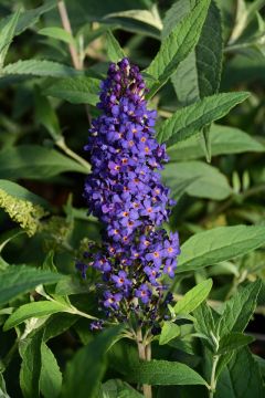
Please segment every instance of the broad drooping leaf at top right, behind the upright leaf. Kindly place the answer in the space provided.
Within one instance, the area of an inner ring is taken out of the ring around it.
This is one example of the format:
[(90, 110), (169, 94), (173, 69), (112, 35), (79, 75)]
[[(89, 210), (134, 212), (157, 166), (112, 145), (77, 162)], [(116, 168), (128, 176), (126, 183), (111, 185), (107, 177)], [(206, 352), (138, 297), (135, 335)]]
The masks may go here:
[[(187, 3), (187, 0), (180, 2)], [(222, 70), (222, 51), (221, 14), (215, 2), (211, 1), (194, 51), (181, 62), (172, 76), (178, 100), (182, 104), (188, 105), (218, 93)]]

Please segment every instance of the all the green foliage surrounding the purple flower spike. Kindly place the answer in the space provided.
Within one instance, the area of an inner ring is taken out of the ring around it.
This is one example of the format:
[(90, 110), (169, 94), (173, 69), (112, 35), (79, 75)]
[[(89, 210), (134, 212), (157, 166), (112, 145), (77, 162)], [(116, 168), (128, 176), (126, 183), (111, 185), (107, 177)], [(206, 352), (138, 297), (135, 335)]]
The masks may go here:
[[(0, 1), (0, 397), (265, 396), (264, 17), (264, 0)], [(124, 56), (181, 241), (170, 316), (138, 347), (135, 320), (91, 331), (98, 274), (75, 270), (102, 228), (83, 148)]]

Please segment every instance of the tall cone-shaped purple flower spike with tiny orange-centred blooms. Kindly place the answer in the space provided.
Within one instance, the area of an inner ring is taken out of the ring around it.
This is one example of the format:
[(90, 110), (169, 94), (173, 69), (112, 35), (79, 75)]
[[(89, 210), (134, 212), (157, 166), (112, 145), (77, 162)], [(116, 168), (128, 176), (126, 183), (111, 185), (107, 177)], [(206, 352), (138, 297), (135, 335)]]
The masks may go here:
[[(104, 226), (103, 244), (87, 263), (102, 273), (97, 284), (105, 315), (156, 327), (167, 311), (165, 276), (173, 277), (180, 253), (178, 233), (168, 234), (173, 201), (161, 182), (166, 146), (155, 138), (156, 111), (147, 108), (146, 84), (127, 59), (112, 63), (100, 86), (88, 144), (92, 172), (85, 182), (88, 210)], [(92, 325), (98, 328), (102, 323)]]

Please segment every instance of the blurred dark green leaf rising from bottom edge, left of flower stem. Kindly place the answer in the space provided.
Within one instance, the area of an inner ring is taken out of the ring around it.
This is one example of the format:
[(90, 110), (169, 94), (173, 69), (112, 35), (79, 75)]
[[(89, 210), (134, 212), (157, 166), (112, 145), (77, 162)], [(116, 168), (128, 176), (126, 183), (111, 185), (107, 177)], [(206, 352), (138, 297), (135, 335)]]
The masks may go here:
[(66, 365), (62, 398), (94, 398), (106, 369), (106, 352), (120, 333), (120, 326), (106, 329), (81, 348)]

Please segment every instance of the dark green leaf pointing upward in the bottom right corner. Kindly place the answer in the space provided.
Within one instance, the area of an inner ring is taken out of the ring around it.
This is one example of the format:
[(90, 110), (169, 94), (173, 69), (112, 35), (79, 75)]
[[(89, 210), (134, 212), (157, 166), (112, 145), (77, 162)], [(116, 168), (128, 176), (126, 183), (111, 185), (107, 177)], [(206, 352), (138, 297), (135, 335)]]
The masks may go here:
[(218, 380), (214, 398), (264, 398), (259, 368), (248, 348), (240, 349)]

